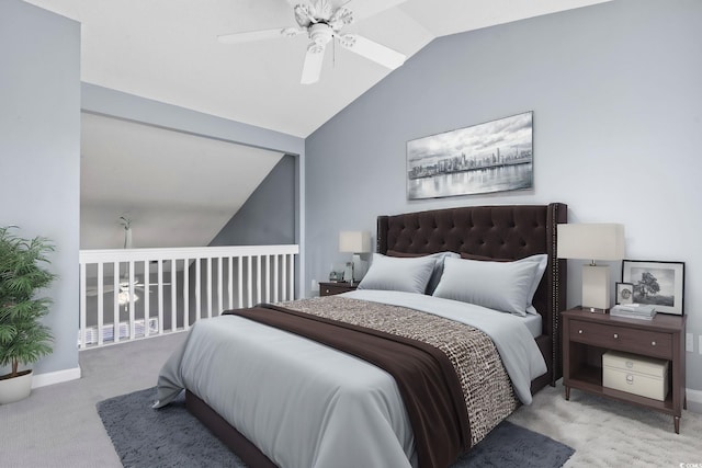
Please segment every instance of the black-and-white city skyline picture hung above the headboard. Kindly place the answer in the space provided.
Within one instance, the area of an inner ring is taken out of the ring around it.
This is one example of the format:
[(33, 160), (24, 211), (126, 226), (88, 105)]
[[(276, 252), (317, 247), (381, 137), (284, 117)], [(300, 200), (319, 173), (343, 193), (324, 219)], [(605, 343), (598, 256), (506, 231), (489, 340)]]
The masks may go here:
[(407, 199), (533, 189), (533, 112), (407, 141)]

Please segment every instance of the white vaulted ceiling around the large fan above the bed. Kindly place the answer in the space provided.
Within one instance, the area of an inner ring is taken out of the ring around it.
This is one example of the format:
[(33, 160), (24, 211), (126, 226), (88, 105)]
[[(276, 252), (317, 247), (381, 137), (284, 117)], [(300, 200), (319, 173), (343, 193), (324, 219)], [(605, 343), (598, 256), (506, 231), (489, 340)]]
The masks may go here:
[[(219, 34), (295, 26), (291, 4), (304, 0), (26, 1), (82, 23), (83, 81), (298, 137), (389, 72), (329, 47), (320, 82), (303, 85), (304, 35), (217, 41)], [(352, 0), (347, 8), (360, 19), (344, 31), (410, 57), (439, 36), (603, 1)]]

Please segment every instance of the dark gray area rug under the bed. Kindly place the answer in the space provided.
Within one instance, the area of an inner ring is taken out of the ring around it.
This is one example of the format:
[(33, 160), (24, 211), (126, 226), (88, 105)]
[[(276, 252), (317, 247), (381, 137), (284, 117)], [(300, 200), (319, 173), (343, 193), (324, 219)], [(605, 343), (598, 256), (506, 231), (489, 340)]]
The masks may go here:
[[(148, 388), (98, 403), (98, 413), (125, 467), (246, 467), (188, 412), (184, 396), (160, 410), (150, 408), (155, 397), (156, 389)], [(574, 452), (503, 421), (451, 468), (561, 467)]]

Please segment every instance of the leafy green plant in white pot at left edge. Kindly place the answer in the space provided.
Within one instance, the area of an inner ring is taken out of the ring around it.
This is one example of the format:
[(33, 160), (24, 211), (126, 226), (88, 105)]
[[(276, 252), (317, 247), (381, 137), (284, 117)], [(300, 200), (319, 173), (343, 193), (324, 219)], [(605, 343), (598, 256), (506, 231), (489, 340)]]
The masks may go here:
[(56, 275), (44, 267), (46, 254), (54, 250), (44, 237), (23, 239), (14, 226), (0, 228), (0, 367), (10, 374), (0, 376), (0, 404), (29, 397), (32, 370), (20, 364), (35, 363), (52, 352), (52, 332), (42, 323), (52, 300), (37, 298)]

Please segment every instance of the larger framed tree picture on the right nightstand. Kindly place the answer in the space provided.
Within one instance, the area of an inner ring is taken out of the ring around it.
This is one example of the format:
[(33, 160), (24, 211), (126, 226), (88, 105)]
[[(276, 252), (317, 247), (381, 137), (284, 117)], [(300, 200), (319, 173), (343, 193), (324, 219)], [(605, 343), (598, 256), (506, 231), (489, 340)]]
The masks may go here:
[(624, 260), (622, 282), (633, 285), (632, 303), (655, 306), (657, 311), (664, 313), (684, 313), (683, 262)]

